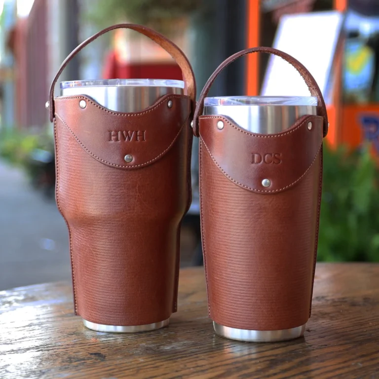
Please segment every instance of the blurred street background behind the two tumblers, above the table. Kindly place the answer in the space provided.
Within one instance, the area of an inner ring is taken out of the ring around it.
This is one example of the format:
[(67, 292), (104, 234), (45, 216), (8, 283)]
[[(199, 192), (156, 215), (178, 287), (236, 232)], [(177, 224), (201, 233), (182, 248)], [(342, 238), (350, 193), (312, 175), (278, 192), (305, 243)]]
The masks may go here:
[[(0, 0), (0, 290), (71, 277), (45, 102), (66, 56), (119, 22), (148, 25), (177, 43), (198, 93), (225, 58), (247, 47), (273, 46), (300, 60), (319, 83), (330, 120), (318, 260), (379, 261), (377, 0)], [(152, 41), (118, 30), (86, 47), (59, 81), (144, 77), (182, 75)], [(251, 55), (230, 65), (210, 96), (304, 91), (295, 70)], [(197, 143), (182, 266), (202, 264)]]

